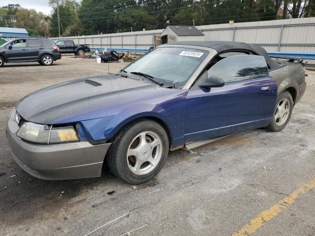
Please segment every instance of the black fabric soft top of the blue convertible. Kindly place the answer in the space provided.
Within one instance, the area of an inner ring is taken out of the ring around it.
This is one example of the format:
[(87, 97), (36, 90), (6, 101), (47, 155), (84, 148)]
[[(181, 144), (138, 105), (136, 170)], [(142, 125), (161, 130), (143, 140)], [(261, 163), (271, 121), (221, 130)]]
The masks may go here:
[(242, 42), (229, 42), (229, 41), (183, 41), (183, 42), (173, 42), (168, 45), (189, 45), (189, 46), (199, 46), (212, 48), (218, 53), (228, 52), (228, 51), (251, 51), (252, 53), (263, 56), (269, 65), (270, 69), (279, 67), (279, 63), (271, 59), (266, 50), (260, 46), (253, 46)]

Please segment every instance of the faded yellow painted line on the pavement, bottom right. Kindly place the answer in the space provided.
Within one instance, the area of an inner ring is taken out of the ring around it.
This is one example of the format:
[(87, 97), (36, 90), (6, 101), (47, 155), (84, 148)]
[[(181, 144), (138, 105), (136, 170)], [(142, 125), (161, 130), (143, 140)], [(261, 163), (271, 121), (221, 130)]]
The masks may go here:
[(313, 177), (312, 180), (310, 180), (306, 184), (303, 184), (297, 190), (292, 192), (288, 197), (282, 199), (278, 204), (270, 207), (268, 210), (261, 211), (257, 215), (256, 218), (253, 218), (250, 221), (250, 224), (245, 225), (244, 228), (242, 228), (238, 232), (233, 233), (232, 236), (252, 235), (256, 230), (264, 226), (264, 224), (267, 221), (271, 220), (272, 218), (277, 216), (280, 212), (282, 212), (287, 207), (292, 205), (300, 195), (307, 193), (314, 187), (315, 187), (315, 177)]

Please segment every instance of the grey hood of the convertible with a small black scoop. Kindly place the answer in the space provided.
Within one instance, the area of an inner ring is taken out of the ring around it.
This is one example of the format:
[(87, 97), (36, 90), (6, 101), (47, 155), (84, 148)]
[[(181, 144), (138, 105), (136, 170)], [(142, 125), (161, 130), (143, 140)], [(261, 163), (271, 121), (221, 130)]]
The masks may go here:
[[(110, 107), (113, 99), (117, 105), (122, 94), (124, 97), (132, 97), (134, 93), (137, 97), (136, 94), (143, 93), (143, 90), (147, 93), (151, 89), (158, 88), (147, 82), (118, 75), (89, 77), (37, 90), (22, 98), (16, 104), (16, 110), (22, 118), (34, 123), (56, 124), (65, 120), (75, 122), (97, 118), (96, 114), (91, 117), (83, 115), (100, 107)], [(121, 102), (126, 100), (122, 99)]]

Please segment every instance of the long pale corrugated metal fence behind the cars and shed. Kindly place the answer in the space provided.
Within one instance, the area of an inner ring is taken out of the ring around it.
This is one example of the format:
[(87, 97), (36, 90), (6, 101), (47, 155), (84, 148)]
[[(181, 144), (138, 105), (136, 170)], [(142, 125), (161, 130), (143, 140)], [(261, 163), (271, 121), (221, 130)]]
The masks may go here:
[[(241, 41), (267, 51), (315, 52), (315, 17), (197, 26), (205, 40)], [(149, 49), (163, 29), (64, 37), (91, 47)], [(53, 38), (58, 39), (58, 38)], [(192, 39), (193, 40), (193, 39)]]

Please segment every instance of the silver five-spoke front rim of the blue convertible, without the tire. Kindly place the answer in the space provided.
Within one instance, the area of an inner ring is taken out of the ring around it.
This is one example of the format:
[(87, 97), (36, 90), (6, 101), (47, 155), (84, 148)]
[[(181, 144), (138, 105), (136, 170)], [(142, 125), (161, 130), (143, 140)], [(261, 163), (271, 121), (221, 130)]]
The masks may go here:
[(146, 131), (138, 134), (128, 147), (126, 160), (129, 170), (136, 175), (150, 173), (158, 166), (162, 148), (157, 133)]

